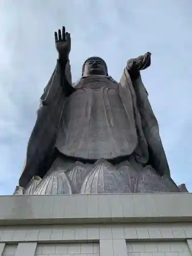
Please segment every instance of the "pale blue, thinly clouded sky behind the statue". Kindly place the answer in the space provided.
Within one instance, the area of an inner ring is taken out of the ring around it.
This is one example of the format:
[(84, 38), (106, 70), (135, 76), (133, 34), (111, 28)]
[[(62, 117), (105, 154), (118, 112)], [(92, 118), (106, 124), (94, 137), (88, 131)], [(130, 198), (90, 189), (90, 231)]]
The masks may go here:
[(174, 181), (192, 192), (191, 0), (1, 0), (0, 195), (12, 195), (26, 158), (39, 98), (56, 64), (54, 31), (71, 33), (73, 81), (84, 60), (102, 57), (119, 81), (145, 52), (143, 83), (158, 119)]

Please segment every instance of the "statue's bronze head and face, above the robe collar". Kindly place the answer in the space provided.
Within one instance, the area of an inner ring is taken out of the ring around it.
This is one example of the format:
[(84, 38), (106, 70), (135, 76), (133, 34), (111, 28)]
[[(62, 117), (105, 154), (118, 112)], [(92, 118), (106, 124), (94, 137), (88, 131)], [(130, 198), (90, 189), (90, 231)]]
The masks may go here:
[(95, 58), (86, 62), (83, 76), (89, 75), (107, 75), (107, 71), (102, 60)]

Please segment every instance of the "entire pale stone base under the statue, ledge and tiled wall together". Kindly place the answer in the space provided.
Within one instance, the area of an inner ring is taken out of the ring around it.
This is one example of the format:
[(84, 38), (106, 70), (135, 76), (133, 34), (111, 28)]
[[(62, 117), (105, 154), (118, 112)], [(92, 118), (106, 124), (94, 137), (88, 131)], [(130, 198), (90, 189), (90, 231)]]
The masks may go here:
[(0, 256), (192, 255), (192, 194), (0, 197)]

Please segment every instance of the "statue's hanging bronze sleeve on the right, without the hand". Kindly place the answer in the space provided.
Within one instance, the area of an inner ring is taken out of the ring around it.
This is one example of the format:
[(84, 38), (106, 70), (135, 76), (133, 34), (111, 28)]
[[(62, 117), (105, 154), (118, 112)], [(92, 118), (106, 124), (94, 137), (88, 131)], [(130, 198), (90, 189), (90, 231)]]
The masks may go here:
[[(136, 96), (136, 108), (139, 111), (142, 130), (148, 145), (149, 164), (161, 176), (170, 176), (169, 166), (159, 135), (159, 126), (148, 100), (148, 93), (141, 80), (140, 73), (136, 79), (131, 79), (127, 68), (124, 69), (120, 80), (121, 87), (128, 86)], [(134, 103), (134, 102), (133, 102)]]

